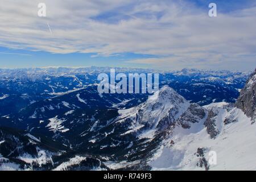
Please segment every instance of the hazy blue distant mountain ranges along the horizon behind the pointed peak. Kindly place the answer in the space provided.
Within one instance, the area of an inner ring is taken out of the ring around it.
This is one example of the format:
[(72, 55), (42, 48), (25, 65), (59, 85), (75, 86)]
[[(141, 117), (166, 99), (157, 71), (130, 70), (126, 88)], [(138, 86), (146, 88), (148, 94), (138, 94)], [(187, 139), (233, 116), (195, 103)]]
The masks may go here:
[[(153, 69), (115, 68), (117, 73), (151, 73)], [(98, 84), (108, 67), (0, 69), (0, 116), (15, 114), (37, 101)], [(235, 102), (250, 73), (183, 69), (160, 72), (160, 86), (168, 85), (201, 106)], [(90, 89), (90, 88), (88, 88)]]

